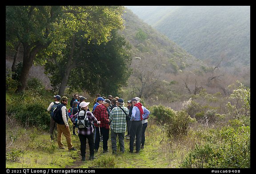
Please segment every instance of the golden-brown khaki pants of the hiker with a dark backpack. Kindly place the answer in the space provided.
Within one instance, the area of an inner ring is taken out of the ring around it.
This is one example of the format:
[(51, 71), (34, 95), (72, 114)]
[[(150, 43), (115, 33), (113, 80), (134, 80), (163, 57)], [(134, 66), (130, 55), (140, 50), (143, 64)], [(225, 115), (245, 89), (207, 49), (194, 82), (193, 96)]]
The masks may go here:
[(63, 134), (66, 137), (68, 149), (71, 149), (73, 145), (71, 143), (71, 133), (70, 133), (69, 127), (65, 128), (65, 124), (57, 124), (57, 131), (58, 131), (58, 135), (57, 135), (58, 146), (59, 147), (64, 146), (64, 144), (61, 143), (62, 134)]

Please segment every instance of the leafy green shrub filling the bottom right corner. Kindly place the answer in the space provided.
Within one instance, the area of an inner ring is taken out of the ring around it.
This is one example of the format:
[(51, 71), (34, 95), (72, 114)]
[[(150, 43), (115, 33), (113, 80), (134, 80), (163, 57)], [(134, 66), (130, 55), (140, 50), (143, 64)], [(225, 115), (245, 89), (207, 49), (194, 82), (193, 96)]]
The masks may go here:
[(183, 168), (250, 168), (250, 127), (216, 130), (204, 145), (196, 145)]

